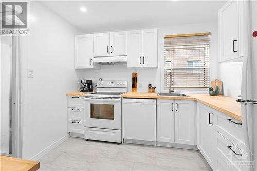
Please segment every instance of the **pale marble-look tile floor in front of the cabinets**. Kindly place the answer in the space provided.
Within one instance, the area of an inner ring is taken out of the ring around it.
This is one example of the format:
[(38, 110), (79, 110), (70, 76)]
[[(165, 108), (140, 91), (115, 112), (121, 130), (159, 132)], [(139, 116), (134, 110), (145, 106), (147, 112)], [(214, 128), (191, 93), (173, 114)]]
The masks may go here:
[(40, 171), (211, 170), (199, 151), (68, 138), (40, 160)]

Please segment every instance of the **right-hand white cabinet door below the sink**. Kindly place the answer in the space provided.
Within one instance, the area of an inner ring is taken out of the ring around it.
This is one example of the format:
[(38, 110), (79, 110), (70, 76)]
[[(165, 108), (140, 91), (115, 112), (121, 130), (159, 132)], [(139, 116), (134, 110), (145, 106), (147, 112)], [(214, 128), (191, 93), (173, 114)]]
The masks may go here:
[(194, 101), (175, 100), (175, 143), (194, 145)]

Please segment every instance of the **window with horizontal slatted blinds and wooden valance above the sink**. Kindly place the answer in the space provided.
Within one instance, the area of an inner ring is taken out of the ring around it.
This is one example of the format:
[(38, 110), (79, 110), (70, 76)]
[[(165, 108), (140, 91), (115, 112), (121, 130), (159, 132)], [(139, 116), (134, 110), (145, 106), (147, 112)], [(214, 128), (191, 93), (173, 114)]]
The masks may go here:
[(204, 88), (210, 86), (210, 33), (164, 37), (164, 86)]

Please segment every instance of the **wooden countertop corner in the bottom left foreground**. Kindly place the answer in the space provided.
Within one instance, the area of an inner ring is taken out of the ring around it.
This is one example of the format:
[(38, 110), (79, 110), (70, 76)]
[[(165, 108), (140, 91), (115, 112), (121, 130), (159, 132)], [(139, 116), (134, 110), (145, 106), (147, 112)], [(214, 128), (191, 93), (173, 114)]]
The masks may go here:
[(14, 157), (0, 156), (1, 171), (35, 171), (40, 167), (39, 162), (18, 159)]

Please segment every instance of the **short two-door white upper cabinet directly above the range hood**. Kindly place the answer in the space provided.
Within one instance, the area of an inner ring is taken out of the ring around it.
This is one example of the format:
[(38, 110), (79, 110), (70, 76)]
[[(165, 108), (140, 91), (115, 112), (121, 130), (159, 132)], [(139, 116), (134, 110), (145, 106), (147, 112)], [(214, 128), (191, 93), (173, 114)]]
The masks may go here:
[(127, 32), (94, 34), (94, 56), (126, 56)]

